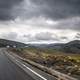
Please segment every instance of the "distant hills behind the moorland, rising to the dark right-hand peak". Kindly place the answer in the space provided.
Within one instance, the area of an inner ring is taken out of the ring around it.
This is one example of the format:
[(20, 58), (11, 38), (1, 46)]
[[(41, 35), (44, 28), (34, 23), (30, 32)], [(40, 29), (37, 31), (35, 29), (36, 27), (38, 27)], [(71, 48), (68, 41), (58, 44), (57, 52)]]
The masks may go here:
[(67, 53), (80, 53), (80, 40), (74, 40), (68, 43), (55, 43), (55, 44), (33, 44), (32, 47), (41, 49), (57, 49)]

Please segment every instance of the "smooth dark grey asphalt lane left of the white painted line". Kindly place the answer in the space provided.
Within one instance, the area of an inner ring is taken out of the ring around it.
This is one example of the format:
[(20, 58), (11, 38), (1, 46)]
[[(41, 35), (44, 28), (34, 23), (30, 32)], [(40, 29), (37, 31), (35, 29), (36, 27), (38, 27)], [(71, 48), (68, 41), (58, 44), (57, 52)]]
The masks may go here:
[(34, 80), (16, 64), (12, 63), (0, 49), (0, 80)]

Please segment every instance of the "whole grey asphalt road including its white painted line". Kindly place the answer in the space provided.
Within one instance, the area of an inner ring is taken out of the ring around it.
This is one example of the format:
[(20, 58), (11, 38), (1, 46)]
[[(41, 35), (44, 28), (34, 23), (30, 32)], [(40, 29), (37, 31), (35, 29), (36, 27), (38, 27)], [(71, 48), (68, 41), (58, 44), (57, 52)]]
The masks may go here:
[(56, 80), (55, 77), (6, 54), (6, 49), (0, 49), (0, 80)]

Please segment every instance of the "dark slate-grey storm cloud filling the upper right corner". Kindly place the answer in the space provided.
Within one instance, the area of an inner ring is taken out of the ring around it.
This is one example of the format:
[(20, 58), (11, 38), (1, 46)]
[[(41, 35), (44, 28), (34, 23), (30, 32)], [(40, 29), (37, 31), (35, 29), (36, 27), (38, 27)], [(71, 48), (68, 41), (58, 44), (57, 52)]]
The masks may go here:
[(32, 0), (42, 14), (52, 19), (80, 16), (80, 0)]

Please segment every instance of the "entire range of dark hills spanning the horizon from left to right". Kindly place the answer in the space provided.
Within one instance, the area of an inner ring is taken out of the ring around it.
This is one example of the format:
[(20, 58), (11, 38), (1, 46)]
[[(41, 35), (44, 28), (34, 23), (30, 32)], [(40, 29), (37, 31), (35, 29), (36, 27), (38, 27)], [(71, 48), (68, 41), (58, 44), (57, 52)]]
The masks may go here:
[(16, 41), (11, 41), (11, 40), (6, 40), (6, 39), (0, 39), (0, 47), (35, 47), (35, 48), (40, 48), (40, 49), (57, 49), (61, 50), (67, 53), (80, 53), (80, 40), (74, 40), (68, 43), (54, 43), (54, 44), (24, 44), (21, 42), (16, 42)]

